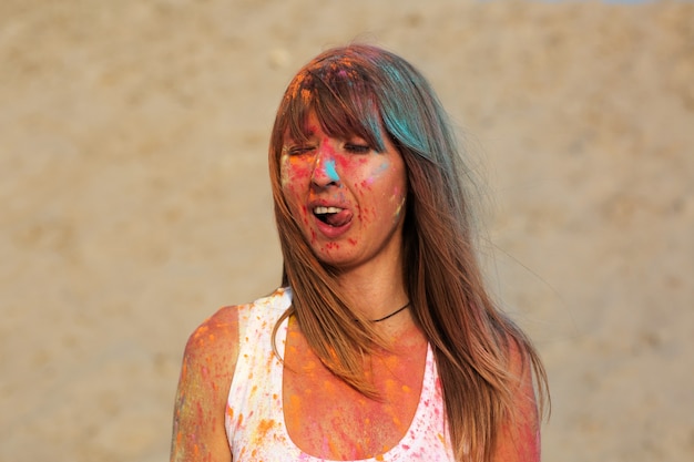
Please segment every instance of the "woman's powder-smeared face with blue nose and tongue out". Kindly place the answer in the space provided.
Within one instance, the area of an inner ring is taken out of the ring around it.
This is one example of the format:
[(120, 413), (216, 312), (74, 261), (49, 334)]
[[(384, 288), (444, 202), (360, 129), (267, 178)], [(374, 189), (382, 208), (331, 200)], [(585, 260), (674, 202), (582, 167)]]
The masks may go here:
[(313, 113), (306, 133), (306, 142), (284, 140), (282, 189), (318, 259), (343, 269), (399, 264), (407, 194), (400, 153), (389, 140), (378, 153), (360, 137), (330, 137)]

